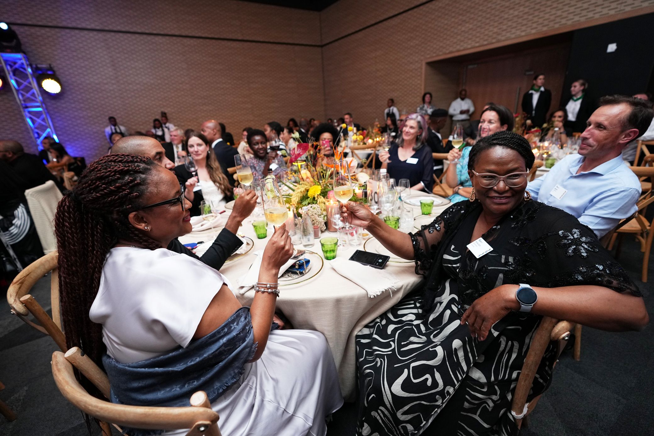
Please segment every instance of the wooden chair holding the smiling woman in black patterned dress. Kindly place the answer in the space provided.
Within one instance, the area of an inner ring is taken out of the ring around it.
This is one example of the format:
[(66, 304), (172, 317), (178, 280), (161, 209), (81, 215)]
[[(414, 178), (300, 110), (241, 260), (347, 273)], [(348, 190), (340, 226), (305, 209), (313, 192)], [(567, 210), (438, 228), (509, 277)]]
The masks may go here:
[(518, 428), (521, 428), (523, 422), (526, 420), (526, 416), (534, 410), (538, 400), (540, 400), (541, 395), (538, 395), (538, 397), (532, 399), (528, 404), (526, 403), (527, 395), (529, 394), (534, 382), (536, 370), (538, 369), (540, 361), (543, 359), (543, 354), (545, 354), (547, 345), (549, 345), (551, 341), (557, 341), (557, 353), (560, 354), (565, 344), (568, 342), (568, 339), (570, 339), (570, 331), (572, 331), (574, 327), (575, 324), (573, 322), (559, 321), (555, 318), (550, 318), (549, 316), (543, 316), (543, 319), (532, 338), (525, 358), (525, 363), (523, 363), (523, 368), (520, 371), (518, 384), (515, 386), (515, 392), (513, 394), (511, 414), (515, 417)]

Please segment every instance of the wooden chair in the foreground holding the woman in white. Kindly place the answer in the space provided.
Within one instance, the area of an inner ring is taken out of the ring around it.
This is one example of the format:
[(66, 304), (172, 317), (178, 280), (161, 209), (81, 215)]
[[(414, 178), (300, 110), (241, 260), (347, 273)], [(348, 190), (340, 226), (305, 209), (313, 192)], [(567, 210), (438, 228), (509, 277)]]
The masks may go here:
[(82, 356), (81, 350), (77, 347), (71, 348), (66, 354), (60, 351), (52, 353), (52, 376), (61, 394), (77, 409), (97, 420), (131, 428), (161, 430), (190, 428), (186, 436), (220, 436), (218, 414), (211, 409), (205, 392), (198, 391), (193, 394), (189, 407), (114, 404), (88, 394), (75, 378), (73, 365), (107, 398), (110, 395), (109, 379), (88, 356)]

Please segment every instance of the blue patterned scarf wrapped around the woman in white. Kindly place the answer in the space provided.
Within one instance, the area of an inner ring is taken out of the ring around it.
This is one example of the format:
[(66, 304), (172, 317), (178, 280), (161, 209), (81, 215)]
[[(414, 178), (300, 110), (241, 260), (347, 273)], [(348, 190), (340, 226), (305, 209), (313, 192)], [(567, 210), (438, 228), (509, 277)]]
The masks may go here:
[[(241, 307), (205, 337), (186, 348), (134, 363), (102, 359), (111, 384), (111, 402), (134, 406), (184, 407), (199, 390), (213, 403), (241, 378), (256, 352), (249, 307)], [(129, 435), (161, 430), (124, 429)]]

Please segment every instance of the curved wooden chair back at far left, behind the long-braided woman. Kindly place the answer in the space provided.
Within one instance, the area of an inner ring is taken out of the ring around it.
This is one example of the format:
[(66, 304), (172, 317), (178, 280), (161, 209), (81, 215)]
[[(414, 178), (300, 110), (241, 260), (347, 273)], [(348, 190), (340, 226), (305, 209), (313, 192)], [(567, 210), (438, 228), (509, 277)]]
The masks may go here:
[[(59, 275), (58, 275), (58, 254), (56, 251), (46, 254), (18, 273), (16, 278), (9, 285), (7, 290), (7, 302), (12, 314), (18, 316), (22, 321), (31, 327), (50, 335), (52, 340), (59, 346), (61, 351), (67, 351), (66, 340), (61, 331), (61, 314), (59, 305)], [(43, 307), (29, 295), (29, 290), (41, 277), (47, 273), (50, 276), (50, 303), (52, 304), (52, 318), (48, 316)], [(29, 314), (39, 322), (35, 324), (29, 320)]]

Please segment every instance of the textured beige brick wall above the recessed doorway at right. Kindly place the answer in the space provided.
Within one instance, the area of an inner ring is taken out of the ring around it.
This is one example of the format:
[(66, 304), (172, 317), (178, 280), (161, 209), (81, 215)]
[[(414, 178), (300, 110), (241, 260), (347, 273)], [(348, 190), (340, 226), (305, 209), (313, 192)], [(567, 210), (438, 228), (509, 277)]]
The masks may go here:
[[(438, 89), (423, 88), (425, 61), (645, 7), (650, 9), (642, 12), (651, 12), (654, 5), (653, 0), (436, 0), (330, 44), (419, 3), (340, 0), (320, 12), (326, 116), (349, 111), (368, 126), (381, 121), (388, 97), (400, 112), (414, 112), (422, 92)], [(455, 98), (456, 93), (434, 95), (437, 103)]]

